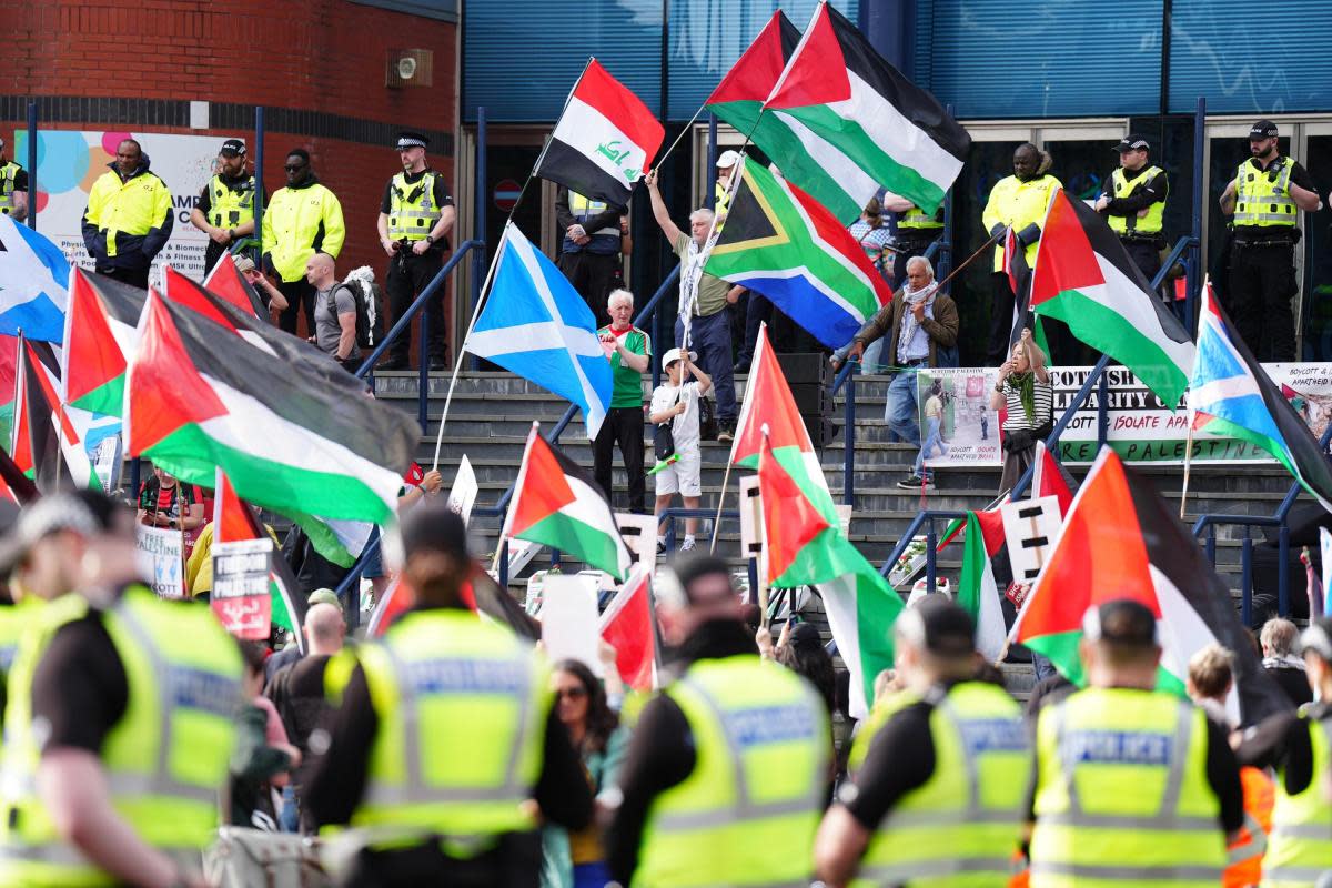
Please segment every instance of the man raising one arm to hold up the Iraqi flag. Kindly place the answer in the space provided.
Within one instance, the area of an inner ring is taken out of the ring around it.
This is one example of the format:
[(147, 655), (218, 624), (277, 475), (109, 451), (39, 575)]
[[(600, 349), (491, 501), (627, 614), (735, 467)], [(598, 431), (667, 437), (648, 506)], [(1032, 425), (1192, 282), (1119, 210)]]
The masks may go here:
[(698, 353), (698, 365), (713, 379), (717, 391), (718, 441), (731, 441), (739, 406), (735, 402), (735, 370), (731, 358), (731, 322), (726, 306), (745, 293), (703, 270), (713, 210), (697, 209), (689, 214), (689, 234), (671, 221), (670, 210), (657, 186), (657, 170), (643, 180), (653, 201), (653, 217), (671, 249), (679, 257), (679, 317), (675, 318), (675, 347), (685, 346), (685, 321), (689, 320), (689, 349)]

